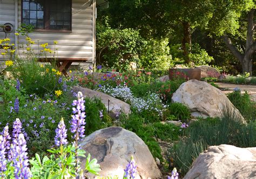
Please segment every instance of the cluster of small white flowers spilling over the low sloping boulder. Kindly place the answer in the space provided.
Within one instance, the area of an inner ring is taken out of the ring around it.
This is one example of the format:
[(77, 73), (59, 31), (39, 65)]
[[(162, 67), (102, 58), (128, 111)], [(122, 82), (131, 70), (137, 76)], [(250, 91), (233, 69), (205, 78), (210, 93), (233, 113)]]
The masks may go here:
[(149, 92), (146, 99), (134, 97), (131, 89), (126, 85), (118, 85), (115, 88), (110, 87), (109, 85), (104, 85), (98, 90), (115, 98), (119, 98), (124, 102), (130, 103), (133, 108), (138, 110), (138, 112), (147, 110), (156, 111), (161, 114), (161, 110), (166, 108), (166, 105), (161, 102), (161, 99), (157, 94)]

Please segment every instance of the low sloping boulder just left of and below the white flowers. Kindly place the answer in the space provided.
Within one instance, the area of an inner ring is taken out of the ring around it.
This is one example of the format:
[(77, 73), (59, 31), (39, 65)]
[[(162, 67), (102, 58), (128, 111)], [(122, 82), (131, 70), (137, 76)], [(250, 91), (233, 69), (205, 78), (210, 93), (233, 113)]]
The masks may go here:
[(88, 88), (83, 87), (73, 87), (75, 92), (81, 91), (82, 94), (86, 97), (97, 97), (100, 98), (102, 103), (105, 105), (106, 109), (109, 109), (110, 115), (112, 117), (118, 116), (120, 111), (124, 112), (125, 114), (130, 113), (130, 104), (127, 104), (120, 99), (114, 98), (110, 95), (105, 94), (104, 92), (99, 92), (95, 90), (91, 90)]

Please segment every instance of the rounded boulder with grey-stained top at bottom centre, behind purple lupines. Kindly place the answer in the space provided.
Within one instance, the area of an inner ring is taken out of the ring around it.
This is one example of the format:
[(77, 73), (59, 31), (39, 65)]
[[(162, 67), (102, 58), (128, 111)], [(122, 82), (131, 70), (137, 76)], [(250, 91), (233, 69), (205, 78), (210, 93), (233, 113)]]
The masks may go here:
[[(160, 170), (149, 148), (135, 133), (122, 127), (108, 127), (87, 136), (80, 146), (100, 164), (100, 176), (123, 178), (124, 169), (133, 155), (137, 163), (136, 178), (159, 178)], [(86, 159), (82, 161), (82, 168)], [(91, 176), (92, 177), (92, 176)]]

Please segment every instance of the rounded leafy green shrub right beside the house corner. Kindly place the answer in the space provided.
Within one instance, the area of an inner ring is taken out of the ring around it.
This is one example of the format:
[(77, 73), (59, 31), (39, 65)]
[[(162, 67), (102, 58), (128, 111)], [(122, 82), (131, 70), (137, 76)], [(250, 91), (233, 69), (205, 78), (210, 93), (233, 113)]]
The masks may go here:
[(145, 41), (137, 30), (105, 28), (97, 34), (97, 60), (106, 67), (129, 69), (130, 62), (140, 63), (139, 53)]

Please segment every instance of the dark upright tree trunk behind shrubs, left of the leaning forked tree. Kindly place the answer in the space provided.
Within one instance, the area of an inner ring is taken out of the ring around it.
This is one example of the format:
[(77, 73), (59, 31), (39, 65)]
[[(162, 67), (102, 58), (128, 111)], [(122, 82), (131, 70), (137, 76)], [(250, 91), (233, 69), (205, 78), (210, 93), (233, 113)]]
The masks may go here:
[(183, 55), (185, 56), (185, 63), (190, 63), (190, 58), (188, 53), (191, 51), (191, 28), (190, 23), (182, 22), (183, 25), (183, 39), (182, 39), (182, 49)]

